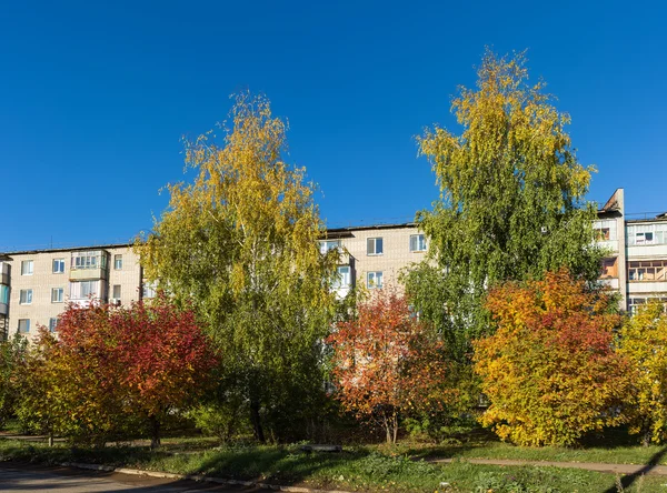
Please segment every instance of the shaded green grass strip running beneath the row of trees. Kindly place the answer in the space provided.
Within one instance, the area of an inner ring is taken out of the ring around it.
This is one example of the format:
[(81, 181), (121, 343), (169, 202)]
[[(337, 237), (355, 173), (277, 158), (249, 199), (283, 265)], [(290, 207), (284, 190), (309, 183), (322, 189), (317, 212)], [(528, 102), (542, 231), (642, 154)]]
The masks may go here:
[[(168, 443), (171, 441), (167, 441)], [(367, 492), (603, 492), (615, 487), (616, 477), (581, 470), (548, 466), (491, 466), (457, 460), (430, 464), (411, 460), (408, 447), (357, 447), (341, 454), (310, 455), (293, 446), (216, 447), (188, 453), (151, 452), (140, 446), (71, 449), (58, 445), (0, 440), (0, 460), (41, 463), (89, 462), (116, 466), (208, 474), (311, 487)], [(195, 441), (197, 443), (197, 441)], [(201, 442), (198, 442), (201, 444)], [(501, 447), (500, 447), (501, 449)], [(447, 482), (449, 486), (440, 486)], [(667, 492), (667, 477), (646, 476), (625, 491)]]

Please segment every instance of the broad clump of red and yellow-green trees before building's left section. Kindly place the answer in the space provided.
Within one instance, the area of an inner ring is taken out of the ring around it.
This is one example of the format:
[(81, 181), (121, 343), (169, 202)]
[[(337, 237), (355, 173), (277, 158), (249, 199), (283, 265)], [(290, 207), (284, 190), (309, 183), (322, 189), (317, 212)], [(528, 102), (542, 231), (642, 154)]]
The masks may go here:
[(195, 313), (162, 296), (128, 308), (70, 305), (58, 333), (42, 329), (32, 360), (43, 371), (32, 375), (22, 415), (79, 440), (149, 425), (159, 446), (165, 417), (200, 396), (217, 364)]

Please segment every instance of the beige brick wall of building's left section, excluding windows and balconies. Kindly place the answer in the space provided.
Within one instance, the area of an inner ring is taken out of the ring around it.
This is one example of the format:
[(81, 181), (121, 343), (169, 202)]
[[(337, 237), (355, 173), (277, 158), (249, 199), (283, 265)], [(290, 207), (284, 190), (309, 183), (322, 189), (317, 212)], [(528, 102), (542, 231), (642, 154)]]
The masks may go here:
[[(141, 270), (137, 255), (128, 245), (92, 247), (76, 250), (43, 250), (32, 252), (8, 253), (11, 259), (11, 292), (8, 319), (8, 333), (11, 336), (19, 330), (19, 320), (29, 320), (30, 330), (27, 335), (34, 338), (38, 325), (49, 326), (50, 319), (57, 319), (70, 302), (70, 278), (72, 252), (83, 250), (103, 250), (109, 252), (108, 279), (101, 279), (106, 284), (102, 291), (112, 294), (112, 285), (121, 285), (121, 301), (129, 303), (139, 299), (141, 285)], [(123, 265), (121, 270), (113, 269), (113, 255), (121, 254)], [(53, 272), (53, 260), (64, 260), (64, 272)], [(23, 261), (32, 261), (32, 274), (22, 274)], [(52, 301), (52, 289), (62, 289), (62, 301)], [(20, 303), (21, 291), (32, 290), (32, 302)], [(104, 299), (104, 301), (107, 301)]]

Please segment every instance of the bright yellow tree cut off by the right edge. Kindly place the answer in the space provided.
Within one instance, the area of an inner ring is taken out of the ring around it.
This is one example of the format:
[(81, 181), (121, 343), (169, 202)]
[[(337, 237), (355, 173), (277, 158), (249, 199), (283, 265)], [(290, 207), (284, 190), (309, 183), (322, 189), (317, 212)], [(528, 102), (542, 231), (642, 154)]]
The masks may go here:
[(620, 332), (620, 353), (633, 365), (629, 412), (633, 433), (643, 441), (667, 439), (667, 313), (654, 301), (640, 306)]

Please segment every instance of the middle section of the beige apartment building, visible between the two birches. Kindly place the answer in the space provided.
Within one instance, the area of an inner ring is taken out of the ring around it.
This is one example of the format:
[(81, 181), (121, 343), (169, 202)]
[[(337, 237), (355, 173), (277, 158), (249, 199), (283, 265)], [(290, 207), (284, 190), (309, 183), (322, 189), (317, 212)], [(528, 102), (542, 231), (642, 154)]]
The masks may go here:
[(322, 253), (339, 249), (340, 296), (362, 284), (368, 289), (397, 286), (400, 271), (420, 262), (426, 254), (426, 237), (414, 223), (336, 228), (320, 241)]

